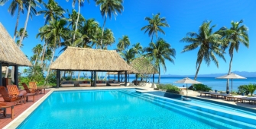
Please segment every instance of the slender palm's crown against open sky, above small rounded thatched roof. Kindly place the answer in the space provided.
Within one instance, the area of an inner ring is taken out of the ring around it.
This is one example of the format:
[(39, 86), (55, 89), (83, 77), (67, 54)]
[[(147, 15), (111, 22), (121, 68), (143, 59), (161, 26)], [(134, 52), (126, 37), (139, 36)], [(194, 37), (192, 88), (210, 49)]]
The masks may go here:
[(145, 20), (148, 21), (148, 25), (142, 27), (141, 30), (145, 30), (144, 33), (148, 32), (148, 36), (151, 36), (151, 42), (153, 42), (154, 34), (156, 35), (156, 37), (158, 37), (157, 32), (164, 33), (164, 30), (162, 30), (160, 27), (169, 27), (169, 24), (167, 24), (167, 20), (165, 19), (165, 17), (160, 17), (160, 13), (156, 15), (153, 14), (152, 19), (151, 17), (145, 17)]

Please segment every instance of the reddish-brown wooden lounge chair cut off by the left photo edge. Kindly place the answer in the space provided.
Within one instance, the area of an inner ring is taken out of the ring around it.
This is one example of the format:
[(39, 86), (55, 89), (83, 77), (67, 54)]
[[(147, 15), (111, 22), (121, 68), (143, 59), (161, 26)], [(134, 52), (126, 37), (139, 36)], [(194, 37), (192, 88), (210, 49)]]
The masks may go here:
[(5, 87), (0, 87), (0, 94), (2, 94), (2, 98), (5, 100), (5, 102), (20, 102), (22, 105), (22, 96), (17, 96), (17, 95), (11, 95), (7, 92)]

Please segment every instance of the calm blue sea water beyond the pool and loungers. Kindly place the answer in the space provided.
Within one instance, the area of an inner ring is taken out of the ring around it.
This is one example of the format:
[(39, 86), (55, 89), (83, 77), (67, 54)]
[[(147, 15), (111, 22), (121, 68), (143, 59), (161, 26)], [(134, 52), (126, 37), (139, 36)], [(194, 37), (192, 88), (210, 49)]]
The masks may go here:
[[(118, 77), (116, 77), (117, 80)], [(124, 77), (125, 78), (125, 77)], [(176, 85), (178, 87), (186, 87), (186, 84), (181, 84), (181, 83), (174, 83), (177, 80), (181, 80), (184, 77), (160, 77), (160, 83), (171, 83), (173, 85)], [(114, 79), (114, 77), (110, 77), (110, 79)], [(132, 80), (134, 80), (135, 77), (130, 77), (130, 82)], [(190, 79), (193, 79), (193, 77), (190, 77)], [(138, 78), (138, 80), (140, 80), (140, 78)], [(154, 82), (157, 83), (158, 77), (154, 77)], [(226, 83), (227, 80), (225, 79), (215, 79), (215, 77), (198, 77), (196, 79), (197, 81), (212, 87), (212, 90), (219, 90), (219, 91), (225, 91), (226, 90)], [(123, 80), (124, 81), (124, 80)], [(153, 77), (150, 78), (150, 80), (147, 80), (152, 82), (153, 81)], [(256, 83), (256, 77), (248, 77), (247, 79), (233, 79), (233, 91), (237, 91), (238, 87), (240, 85), (245, 85), (245, 84), (249, 84), (249, 83)], [(188, 84), (188, 87), (190, 86), (190, 84)], [(232, 81), (229, 80), (229, 90), (231, 91), (232, 88)]]

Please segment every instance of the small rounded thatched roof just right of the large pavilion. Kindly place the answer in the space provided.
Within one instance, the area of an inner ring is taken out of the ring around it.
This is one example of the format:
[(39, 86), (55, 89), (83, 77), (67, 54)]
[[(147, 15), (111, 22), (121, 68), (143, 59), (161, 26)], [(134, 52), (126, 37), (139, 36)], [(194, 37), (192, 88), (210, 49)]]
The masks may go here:
[(131, 61), (130, 65), (135, 71), (138, 71), (139, 74), (158, 74), (156, 68), (151, 64), (147, 58), (135, 58)]

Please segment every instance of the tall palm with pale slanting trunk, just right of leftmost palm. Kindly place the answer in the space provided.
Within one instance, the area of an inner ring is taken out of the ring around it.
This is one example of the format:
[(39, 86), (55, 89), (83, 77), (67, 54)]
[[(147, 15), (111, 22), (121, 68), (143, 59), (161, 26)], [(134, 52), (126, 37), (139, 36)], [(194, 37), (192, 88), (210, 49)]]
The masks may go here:
[[(41, 2), (41, 0), (36, 0), (36, 1)], [(27, 18), (26, 18), (26, 21), (25, 21), (25, 24), (24, 24), (24, 30), (25, 31), (27, 30), (29, 16), (32, 17), (32, 14), (36, 14), (36, 12), (37, 12), (36, 9), (35, 9), (36, 6), (37, 6), (36, 1), (35, 0), (25, 0), (25, 2), (28, 2), (28, 14), (27, 14)], [(18, 44), (19, 47), (21, 46), (21, 42), (24, 39), (25, 31), (21, 35), (21, 39), (20, 39), (20, 42)]]

